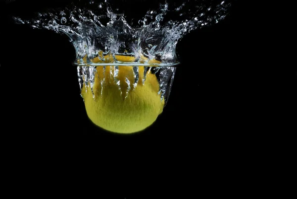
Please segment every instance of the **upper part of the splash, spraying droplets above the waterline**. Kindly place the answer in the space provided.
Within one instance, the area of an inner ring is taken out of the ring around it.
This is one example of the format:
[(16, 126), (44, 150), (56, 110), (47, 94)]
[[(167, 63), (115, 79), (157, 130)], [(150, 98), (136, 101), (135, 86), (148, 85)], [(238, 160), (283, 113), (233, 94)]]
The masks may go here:
[[(133, 56), (130, 62), (135, 66), (149, 66), (151, 60), (158, 60), (157, 66), (172, 66), (179, 63), (177, 42), (197, 28), (224, 19), (230, 6), (230, 0), (187, 0), (181, 4), (167, 0), (157, 9), (148, 9), (132, 26), (124, 11), (113, 10), (107, 0), (91, 0), (85, 7), (72, 3), (64, 9), (37, 13), (34, 19), (14, 19), (66, 34), (76, 51), (75, 64), (80, 66), (123, 64), (115, 55)], [(106, 60), (106, 56), (113, 59)]]

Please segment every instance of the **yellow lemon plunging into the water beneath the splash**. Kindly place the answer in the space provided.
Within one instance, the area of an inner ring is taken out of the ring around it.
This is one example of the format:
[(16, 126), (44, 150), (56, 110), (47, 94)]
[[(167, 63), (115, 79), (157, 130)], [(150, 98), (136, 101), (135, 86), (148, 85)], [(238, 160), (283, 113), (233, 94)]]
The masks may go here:
[[(116, 59), (134, 60), (129, 56)], [(158, 94), (156, 76), (148, 71), (143, 82), (145, 66), (137, 67), (139, 81), (134, 84), (133, 66), (118, 66), (117, 71), (114, 66), (97, 66), (93, 92), (91, 86), (82, 89), (88, 117), (94, 124), (114, 133), (135, 133), (146, 129), (162, 113), (164, 100)]]

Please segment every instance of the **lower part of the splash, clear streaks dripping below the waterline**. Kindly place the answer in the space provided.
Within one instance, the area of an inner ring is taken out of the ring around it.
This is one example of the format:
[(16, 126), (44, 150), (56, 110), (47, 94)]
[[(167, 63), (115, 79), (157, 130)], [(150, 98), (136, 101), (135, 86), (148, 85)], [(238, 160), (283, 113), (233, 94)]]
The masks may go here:
[[(108, 67), (108, 70), (102, 70), (103, 67)], [(126, 66), (120, 66), (126, 67)], [(129, 67), (129, 66), (128, 66)], [(131, 66), (130, 66), (131, 67)], [(142, 70), (144, 71), (143, 75), (139, 75), (139, 68), (143, 67)], [(108, 76), (109, 81), (105, 81), (105, 76), (101, 79), (98, 75), (98, 70), (103, 71), (102, 74)], [(120, 90), (120, 94), (123, 99), (126, 99), (129, 96), (129, 93), (133, 91), (139, 84), (145, 85), (147, 80), (148, 74), (153, 74), (156, 77), (156, 80), (159, 84), (159, 91), (157, 92), (160, 95), (160, 100), (165, 100), (165, 103), (168, 100), (171, 86), (174, 79), (174, 74), (176, 71), (176, 67), (168, 66), (133, 66), (133, 81), (130, 81), (129, 78), (126, 76), (124, 78), (124, 83), (121, 82), (121, 78), (119, 78), (119, 66), (79, 66), (77, 70), (78, 79), (80, 83), (81, 90), (83, 86), (85, 86), (85, 90), (87, 92), (88, 88), (91, 88), (91, 92), (93, 98), (101, 97), (104, 89), (108, 88), (108, 85), (117, 85), (118, 89)], [(95, 79), (99, 79), (100, 86), (94, 86)], [(149, 82), (148, 82), (149, 83)], [(96, 91), (95, 88), (99, 87), (99, 92)], [(97, 93), (97, 95), (96, 95)]]

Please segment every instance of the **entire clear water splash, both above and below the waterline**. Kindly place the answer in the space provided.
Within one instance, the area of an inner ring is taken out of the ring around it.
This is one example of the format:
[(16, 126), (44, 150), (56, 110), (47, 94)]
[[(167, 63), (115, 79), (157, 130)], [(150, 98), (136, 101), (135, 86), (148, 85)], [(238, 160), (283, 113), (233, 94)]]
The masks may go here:
[[(102, 96), (105, 84), (112, 83), (126, 99), (139, 83), (146, 83), (148, 74), (153, 74), (160, 99), (166, 103), (176, 71), (172, 66), (179, 64), (177, 42), (197, 28), (223, 20), (231, 6), (231, 0), (187, 0), (181, 4), (168, 1), (148, 9), (134, 24), (127, 22), (123, 10), (114, 11), (107, 0), (91, 0), (85, 7), (72, 3), (64, 9), (37, 13), (34, 19), (14, 17), (14, 20), (66, 34), (76, 51), (74, 64), (78, 65), (80, 87), (85, 86), (86, 91), (91, 87), (93, 98), (96, 93)], [(125, 59), (118, 59), (121, 56)], [(119, 66), (132, 67), (133, 79), (126, 76), (121, 82)], [(139, 66), (144, 67), (142, 73)], [(97, 69), (102, 70), (100, 78)], [(96, 79), (99, 91), (94, 87)]]

